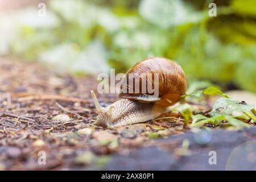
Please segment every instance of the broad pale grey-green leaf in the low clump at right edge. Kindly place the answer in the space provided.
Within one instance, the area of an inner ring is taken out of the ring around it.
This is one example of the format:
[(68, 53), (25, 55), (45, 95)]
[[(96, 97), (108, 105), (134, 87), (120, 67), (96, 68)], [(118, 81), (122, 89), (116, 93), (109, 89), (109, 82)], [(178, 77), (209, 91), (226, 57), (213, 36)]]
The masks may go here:
[(254, 108), (254, 105), (243, 104), (240, 101), (232, 100), (231, 98), (220, 98), (213, 105), (210, 115), (215, 116), (219, 114), (232, 115), (234, 112), (246, 112)]

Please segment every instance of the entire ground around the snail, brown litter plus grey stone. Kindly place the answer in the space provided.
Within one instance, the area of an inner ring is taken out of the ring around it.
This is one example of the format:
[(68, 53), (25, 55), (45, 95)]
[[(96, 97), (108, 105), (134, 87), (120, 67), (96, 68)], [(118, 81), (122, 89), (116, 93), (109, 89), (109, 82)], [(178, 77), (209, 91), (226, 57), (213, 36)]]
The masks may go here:
[[(232, 151), (248, 141), (253, 149), (236, 151), (245, 156), (246, 168), (255, 168), (254, 127), (195, 135), (180, 115), (115, 129), (93, 126), (97, 114), (90, 90), (97, 83), (91, 76), (1, 58), (0, 170), (230, 169), (240, 161), (234, 162)], [(98, 100), (107, 106), (118, 97), (98, 95)], [(210, 151), (220, 162), (209, 163)]]

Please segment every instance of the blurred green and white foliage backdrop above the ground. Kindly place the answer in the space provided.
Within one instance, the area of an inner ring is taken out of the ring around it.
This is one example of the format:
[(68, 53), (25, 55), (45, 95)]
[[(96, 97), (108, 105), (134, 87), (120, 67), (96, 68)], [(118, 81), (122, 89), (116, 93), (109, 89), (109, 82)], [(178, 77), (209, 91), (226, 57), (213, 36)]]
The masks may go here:
[(7, 4), (0, 1), (0, 56), (82, 75), (162, 56), (189, 81), (256, 92), (255, 0), (52, 0), (4, 11)]

